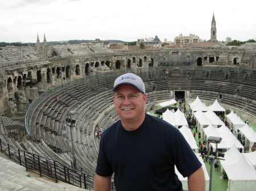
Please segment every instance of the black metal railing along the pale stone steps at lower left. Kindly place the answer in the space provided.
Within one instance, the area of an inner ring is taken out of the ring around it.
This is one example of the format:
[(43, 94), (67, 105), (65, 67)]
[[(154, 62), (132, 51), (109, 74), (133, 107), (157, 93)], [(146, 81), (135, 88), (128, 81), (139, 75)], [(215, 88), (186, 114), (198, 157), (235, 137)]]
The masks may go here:
[(35, 172), (56, 182), (60, 180), (80, 188), (94, 190), (94, 176), (92, 175), (66, 167), (56, 160), (20, 150), (1, 138), (0, 148), (1, 152), (8, 156), (8, 158), (26, 167), (26, 171)]

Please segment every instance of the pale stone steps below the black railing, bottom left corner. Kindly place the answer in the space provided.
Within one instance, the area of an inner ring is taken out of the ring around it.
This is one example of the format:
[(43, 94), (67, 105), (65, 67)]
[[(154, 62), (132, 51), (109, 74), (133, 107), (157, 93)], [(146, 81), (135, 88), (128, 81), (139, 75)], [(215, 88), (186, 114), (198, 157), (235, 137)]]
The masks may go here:
[[(2, 156), (2, 155), (1, 155)], [(57, 191), (57, 190), (86, 190), (77, 186), (69, 185), (64, 182), (40, 177), (32, 172), (27, 172), (26, 168), (11, 162), (0, 156), (0, 190), (38, 190), (38, 191)]]

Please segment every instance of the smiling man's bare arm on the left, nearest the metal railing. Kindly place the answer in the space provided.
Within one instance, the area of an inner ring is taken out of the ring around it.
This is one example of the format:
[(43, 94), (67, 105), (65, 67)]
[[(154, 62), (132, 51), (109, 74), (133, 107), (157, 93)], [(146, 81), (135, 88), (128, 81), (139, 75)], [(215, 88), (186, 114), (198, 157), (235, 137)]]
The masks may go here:
[(95, 191), (110, 191), (112, 176), (100, 176), (95, 174), (94, 178), (94, 188)]

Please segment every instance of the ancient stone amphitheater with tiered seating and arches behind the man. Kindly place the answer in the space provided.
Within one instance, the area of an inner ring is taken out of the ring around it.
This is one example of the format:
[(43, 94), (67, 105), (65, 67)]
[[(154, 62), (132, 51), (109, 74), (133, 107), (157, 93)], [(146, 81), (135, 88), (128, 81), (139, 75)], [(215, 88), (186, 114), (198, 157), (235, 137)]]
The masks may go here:
[[(207, 105), (218, 99), (256, 124), (255, 50), (256, 43), (138, 51), (100, 45), (0, 48), (1, 151), (24, 172), (93, 190), (99, 145), (94, 130), (119, 119), (112, 100), (115, 78), (129, 72), (143, 79), (146, 111), (170, 95), (183, 95), (187, 103), (199, 96)], [(70, 111), (75, 121), (68, 123)], [(15, 182), (33, 190), (17, 180), (27, 174), (16, 175), (13, 168), (0, 172), (0, 188), (11, 190)]]

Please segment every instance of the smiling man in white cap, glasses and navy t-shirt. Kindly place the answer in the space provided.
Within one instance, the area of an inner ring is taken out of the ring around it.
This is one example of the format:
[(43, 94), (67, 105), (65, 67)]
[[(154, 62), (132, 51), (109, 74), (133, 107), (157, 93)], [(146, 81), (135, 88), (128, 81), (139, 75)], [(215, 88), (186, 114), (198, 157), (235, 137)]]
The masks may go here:
[(189, 191), (205, 190), (204, 172), (191, 147), (174, 126), (144, 111), (145, 86), (135, 74), (114, 82), (119, 121), (102, 133), (95, 190), (183, 190), (175, 174), (188, 177)]

